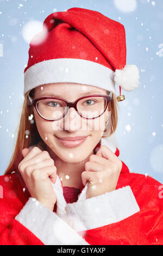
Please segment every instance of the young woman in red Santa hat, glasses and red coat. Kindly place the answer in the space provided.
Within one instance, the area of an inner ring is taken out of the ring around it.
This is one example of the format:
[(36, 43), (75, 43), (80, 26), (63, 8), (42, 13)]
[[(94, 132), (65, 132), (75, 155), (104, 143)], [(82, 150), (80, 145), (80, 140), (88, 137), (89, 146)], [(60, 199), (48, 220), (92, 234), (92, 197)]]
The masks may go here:
[(30, 42), (15, 151), (0, 177), (1, 245), (163, 244), (163, 186), (130, 173), (114, 140), (121, 87), (139, 86), (123, 25), (83, 8), (43, 25)]

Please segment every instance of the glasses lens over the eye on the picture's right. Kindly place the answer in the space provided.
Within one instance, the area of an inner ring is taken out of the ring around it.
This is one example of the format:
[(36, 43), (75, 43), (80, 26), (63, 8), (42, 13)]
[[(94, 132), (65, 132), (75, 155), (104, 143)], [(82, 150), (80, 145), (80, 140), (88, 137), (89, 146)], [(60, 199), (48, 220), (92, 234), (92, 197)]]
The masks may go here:
[(96, 118), (103, 114), (106, 108), (107, 100), (101, 96), (91, 96), (79, 100), (77, 109), (83, 117)]

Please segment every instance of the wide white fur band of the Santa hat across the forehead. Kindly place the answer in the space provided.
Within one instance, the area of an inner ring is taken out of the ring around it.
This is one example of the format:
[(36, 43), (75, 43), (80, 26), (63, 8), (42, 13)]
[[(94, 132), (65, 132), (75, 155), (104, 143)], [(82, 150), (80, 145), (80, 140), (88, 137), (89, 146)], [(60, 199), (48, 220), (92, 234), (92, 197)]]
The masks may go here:
[(85, 59), (49, 59), (30, 66), (24, 72), (24, 95), (48, 83), (80, 83), (96, 86), (116, 94), (114, 71)]

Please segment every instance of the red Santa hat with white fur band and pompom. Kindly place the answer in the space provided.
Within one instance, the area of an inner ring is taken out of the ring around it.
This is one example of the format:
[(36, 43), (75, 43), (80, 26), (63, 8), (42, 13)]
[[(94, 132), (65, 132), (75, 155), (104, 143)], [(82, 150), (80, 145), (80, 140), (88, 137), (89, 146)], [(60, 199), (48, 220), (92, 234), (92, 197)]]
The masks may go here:
[(24, 95), (42, 84), (59, 82), (92, 85), (115, 94), (117, 84), (120, 95), (121, 88), (139, 87), (138, 68), (126, 65), (124, 26), (83, 8), (48, 15), (42, 32), (30, 41)]

